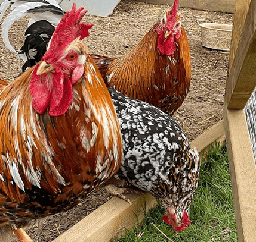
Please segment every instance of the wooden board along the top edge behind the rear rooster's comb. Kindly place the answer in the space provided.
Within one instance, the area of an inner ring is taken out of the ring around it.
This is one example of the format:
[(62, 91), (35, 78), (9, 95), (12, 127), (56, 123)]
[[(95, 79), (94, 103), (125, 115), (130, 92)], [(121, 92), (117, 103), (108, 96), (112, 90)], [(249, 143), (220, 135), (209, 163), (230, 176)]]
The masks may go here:
[[(173, 4), (174, 0), (138, 0), (148, 4)], [(180, 7), (195, 8), (198, 10), (212, 10), (220, 12), (234, 12), (235, 0), (180, 0)]]

